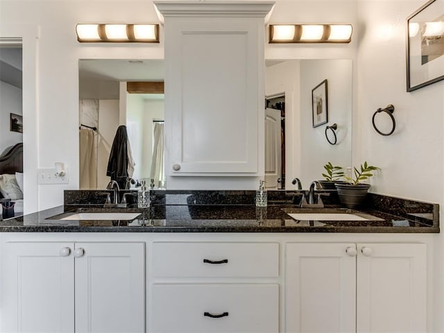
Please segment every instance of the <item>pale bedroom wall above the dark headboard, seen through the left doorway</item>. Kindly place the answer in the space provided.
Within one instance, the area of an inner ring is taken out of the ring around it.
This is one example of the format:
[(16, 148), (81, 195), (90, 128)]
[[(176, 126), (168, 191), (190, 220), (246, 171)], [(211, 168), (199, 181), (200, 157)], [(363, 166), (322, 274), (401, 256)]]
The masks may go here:
[(10, 131), (10, 114), (22, 115), (22, 89), (0, 81), (0, 154), (19, 142), (23, 134)]

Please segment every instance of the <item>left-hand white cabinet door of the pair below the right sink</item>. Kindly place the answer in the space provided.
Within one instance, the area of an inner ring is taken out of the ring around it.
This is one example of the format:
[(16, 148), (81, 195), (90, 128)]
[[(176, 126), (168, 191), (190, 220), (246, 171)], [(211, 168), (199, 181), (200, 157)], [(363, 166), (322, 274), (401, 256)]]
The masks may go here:
[(355, 244), (287, 244), (285, 332), (355, 332)]

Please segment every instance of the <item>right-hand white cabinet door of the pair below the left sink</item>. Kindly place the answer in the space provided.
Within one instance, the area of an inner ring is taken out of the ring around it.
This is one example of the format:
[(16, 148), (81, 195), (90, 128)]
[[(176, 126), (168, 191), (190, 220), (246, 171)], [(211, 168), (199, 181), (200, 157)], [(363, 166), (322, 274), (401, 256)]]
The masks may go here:
[(76, 243), (76, 332), (145, 332), (144, 243)]

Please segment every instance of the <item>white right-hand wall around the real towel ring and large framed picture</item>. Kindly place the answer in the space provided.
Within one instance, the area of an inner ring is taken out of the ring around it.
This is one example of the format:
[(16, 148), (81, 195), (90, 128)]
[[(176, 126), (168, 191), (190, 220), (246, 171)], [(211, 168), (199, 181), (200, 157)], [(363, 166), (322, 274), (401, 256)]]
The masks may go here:
[[(355, 117), (356, 163), (382, 169), (373, 189), (433, 202), (443, 200), (444, 81), (406, 92), (405, 19), (423, 1), (360, 1), (365, 26), (358, 52), (359, 96)], [(396, 130), (383, 137), (371, 124), (373, 112), (395, 106)], [(371, 161), (370, 161), (371, 160)], [(408, 180), (413, 178), (413, 182)]]

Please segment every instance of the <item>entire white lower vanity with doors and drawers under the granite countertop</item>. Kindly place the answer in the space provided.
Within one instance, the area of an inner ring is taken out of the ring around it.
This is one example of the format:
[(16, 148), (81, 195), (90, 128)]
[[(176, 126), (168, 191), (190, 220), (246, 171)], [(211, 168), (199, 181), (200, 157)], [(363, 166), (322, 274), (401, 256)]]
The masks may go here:
[(6, 232), (0, 245), (1, 333), (413, 333), (436, 315), (432, 235)]

